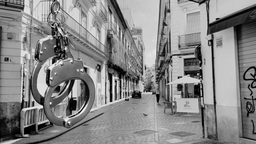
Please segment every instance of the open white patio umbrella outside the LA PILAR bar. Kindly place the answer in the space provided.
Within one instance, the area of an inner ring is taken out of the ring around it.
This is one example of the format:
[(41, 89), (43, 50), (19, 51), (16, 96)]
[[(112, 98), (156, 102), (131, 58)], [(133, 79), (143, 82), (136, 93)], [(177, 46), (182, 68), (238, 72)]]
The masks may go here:
[[(187, 92), (186, 92), (186, 97), (188, 97), (188, 87), (187, 87), (187, 84), (191, 84), (191, 83), (200, 83), (200, 79), (196, 79), (196, 78), (193, 78), (193, 77), (190, 77), (190, 76), (182, 76), (181, 78), (177, 79), (177, 80), (174, 80), (168, 84), (186, 84), (186, 89), (187, 89)], [(168, 85), (166, 84), (166, 85)]]

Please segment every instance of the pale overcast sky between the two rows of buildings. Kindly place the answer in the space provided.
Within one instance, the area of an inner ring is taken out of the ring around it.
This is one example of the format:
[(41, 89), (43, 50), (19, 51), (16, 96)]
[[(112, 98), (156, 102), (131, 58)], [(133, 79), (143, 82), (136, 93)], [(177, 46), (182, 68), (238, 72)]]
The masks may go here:
[(143, 29), (145, 64), (152, 66), (156, 60), (156, 40), (159, 0), (117, 0), (119, 6), (130, 8), (135, 27)]

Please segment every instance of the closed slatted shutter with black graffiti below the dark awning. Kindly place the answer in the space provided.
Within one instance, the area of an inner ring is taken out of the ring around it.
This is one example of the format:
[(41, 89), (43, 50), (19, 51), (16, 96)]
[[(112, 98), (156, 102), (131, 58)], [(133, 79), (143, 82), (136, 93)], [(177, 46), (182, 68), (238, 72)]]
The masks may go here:
[(237, 26), (243, 137), (256, 140), (256, 22)]

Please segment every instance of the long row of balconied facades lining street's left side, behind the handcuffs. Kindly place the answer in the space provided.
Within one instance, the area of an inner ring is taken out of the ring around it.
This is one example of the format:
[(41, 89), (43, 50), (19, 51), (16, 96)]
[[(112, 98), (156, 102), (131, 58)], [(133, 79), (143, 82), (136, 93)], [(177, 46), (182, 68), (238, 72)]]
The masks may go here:
[[(93, 107), (131, 96), (144, 81), (140, 48), (134, 44), (131, 30), (116, 0), (76, 0), (60, 2), (57, 16), (75, 44), (70, 49), (74, 59), (81, 60), (95, 85)], [(22, 108), (39, 105), (30, 91), (30, 77), (36, 65), (34, 53), (39, 39), (52, 34), (52, 1), (13, 1), (0, 4), (0, 135), (20, 133)], [(49, 17), (48, 17), (49, 15)], [(118, 56), (122, 56), (120, 59)], [(38, 74), (37, 87), (44, 95), (47, 85), (43, 68), (56, 60), (48, 60)], [(62, 89), (60, 85), (56, 93)], [(88, 94), (87, 85), (76, 80), (72, 92), (62, 101), (64, 109), (71, 97), (82, 106)], [(77, 110), (78, 110), (77, 109)], [(75, 111), (65, 111), (70, 115)]]

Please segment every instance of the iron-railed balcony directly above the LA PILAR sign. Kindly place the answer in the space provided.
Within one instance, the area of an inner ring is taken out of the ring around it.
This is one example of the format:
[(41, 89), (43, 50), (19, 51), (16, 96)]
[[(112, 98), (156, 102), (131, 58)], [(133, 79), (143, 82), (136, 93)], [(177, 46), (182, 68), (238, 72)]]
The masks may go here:
[(178, 36), (178, 48), (185, 49), (201, 44), (201, 33)]

